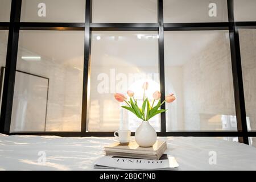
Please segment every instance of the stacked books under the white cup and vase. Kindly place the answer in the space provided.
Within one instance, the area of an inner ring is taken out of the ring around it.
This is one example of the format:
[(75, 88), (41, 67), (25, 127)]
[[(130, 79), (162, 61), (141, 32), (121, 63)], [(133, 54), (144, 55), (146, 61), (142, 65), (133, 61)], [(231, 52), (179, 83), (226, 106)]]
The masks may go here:
[(123, 146), (117, 142), (105, 147), (106, 155), (158, 160), (167, 149), (165, 141), (157, 140), (152, 147), (140, 147), (136, 142)]

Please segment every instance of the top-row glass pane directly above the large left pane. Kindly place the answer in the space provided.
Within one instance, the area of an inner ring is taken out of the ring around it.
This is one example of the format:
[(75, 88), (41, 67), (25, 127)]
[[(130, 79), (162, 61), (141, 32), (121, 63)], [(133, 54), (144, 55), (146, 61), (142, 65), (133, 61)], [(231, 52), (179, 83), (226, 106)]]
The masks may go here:
[(21, 22), (84, 22), (85, 0), (23, 0)]

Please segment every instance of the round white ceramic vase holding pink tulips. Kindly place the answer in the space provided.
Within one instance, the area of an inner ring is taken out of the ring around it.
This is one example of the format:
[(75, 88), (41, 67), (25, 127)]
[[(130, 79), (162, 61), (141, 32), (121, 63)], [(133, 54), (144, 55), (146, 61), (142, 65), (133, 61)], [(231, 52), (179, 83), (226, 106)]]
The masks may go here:
[(156, 131), (148, 121), (142, 121), (135, 132), (135, 140), (141, 147), (152, 147), (156, 142)]

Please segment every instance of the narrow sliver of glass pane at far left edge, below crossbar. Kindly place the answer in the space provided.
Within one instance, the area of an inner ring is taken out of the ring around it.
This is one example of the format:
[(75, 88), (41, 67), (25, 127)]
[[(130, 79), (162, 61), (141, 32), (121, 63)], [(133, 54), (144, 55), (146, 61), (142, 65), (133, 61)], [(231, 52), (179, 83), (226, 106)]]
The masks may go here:
[(6, 52), (7, 52), (7, 42), (8, 42), (8, 31), (0, 30), (0, 88), (1, 88), (1, 97), (0, 97), (0, 109), (2, 106), (2, 92), (3, 92), (3, 80), (5, 77), (5, 63), (6, 63)]

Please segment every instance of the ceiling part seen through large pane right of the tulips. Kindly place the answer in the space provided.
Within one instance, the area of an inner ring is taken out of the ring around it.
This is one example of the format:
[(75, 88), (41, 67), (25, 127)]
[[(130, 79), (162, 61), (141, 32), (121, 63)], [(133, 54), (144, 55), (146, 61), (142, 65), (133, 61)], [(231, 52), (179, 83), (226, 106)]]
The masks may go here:
[(218, 39), (225, 39), (229, 43), (229, 31), (165, 32), (164, 63), (166, 66), (181, 66)]

